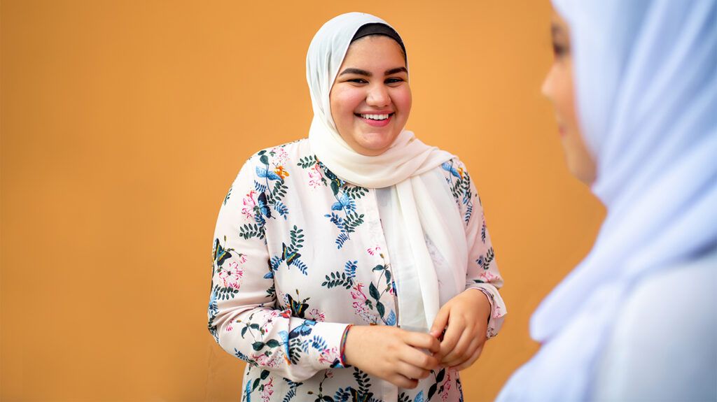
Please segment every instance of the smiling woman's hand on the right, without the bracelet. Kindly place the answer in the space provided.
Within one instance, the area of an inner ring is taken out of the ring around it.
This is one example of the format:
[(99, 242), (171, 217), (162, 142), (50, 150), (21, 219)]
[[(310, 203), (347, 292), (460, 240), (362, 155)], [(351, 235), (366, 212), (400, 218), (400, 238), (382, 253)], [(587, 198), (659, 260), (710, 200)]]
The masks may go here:
[(437, 355), (440, 364), (458, 371), (470, 367), (483, 350), (489, 317), (490, 301), (478, 289), (464, 290), (445, 303), (430, 332), (440, 338), (445, 329)]

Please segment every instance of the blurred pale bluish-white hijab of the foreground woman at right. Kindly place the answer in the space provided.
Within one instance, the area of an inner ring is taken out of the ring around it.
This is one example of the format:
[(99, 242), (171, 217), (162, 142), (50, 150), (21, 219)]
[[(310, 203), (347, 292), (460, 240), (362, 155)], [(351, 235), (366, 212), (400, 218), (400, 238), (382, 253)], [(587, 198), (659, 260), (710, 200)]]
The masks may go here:
[(608, 213), (591, 253), (533, 314), (543, 346), (499, 401), (589, 399), (635, 283), (717, 247), (717, 3), (554, 4), (570, 25), (592, 191)]

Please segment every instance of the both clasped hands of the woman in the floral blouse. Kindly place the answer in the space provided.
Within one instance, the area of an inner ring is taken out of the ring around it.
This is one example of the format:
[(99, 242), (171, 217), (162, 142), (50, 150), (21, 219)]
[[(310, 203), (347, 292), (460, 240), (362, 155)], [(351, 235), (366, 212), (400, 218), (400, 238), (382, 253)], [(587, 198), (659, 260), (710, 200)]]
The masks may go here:
[(440, 366), (462, 370), (483, 350), (490, 315), (480, 290), (465, 290), (438, 312), (429, 333), (384, 325), (355, 325), (344, 349), (346, 363), (401, 388), (416, 388)]

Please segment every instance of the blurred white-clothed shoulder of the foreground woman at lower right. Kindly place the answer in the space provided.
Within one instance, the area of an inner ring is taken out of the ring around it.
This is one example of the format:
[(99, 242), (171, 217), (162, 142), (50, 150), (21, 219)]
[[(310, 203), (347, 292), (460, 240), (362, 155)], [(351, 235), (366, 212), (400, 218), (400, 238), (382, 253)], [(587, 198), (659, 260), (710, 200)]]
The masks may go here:
[(716, 268), (712, 252), (632, 289), (599, 365), (598, 399), (717, 396)]

